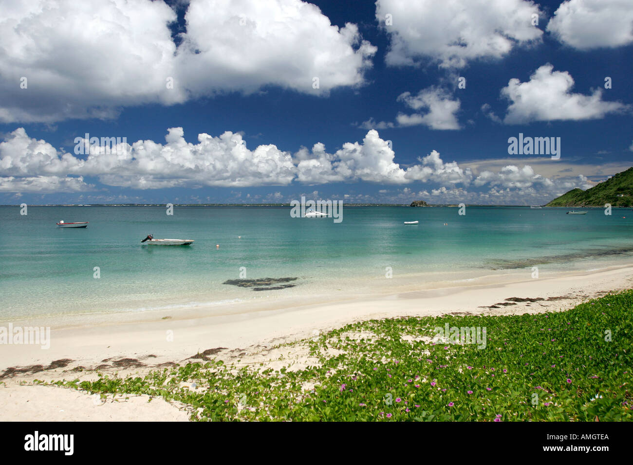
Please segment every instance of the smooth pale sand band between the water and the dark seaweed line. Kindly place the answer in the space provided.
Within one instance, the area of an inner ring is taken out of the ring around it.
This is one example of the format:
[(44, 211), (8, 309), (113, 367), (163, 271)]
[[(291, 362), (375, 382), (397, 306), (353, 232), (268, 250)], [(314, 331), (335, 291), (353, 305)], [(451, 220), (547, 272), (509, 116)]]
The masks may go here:
[[(49, 349), (41, 349), (39, 345), (2, 345), (0, 375), (9, 367), (47, 366), (60, 359), (72, 360), (69, 366), (92, 367), (103, 365), (102, 361), (112, 357), (138, 360), (139, 357), (153, 356), (154, 365), (177, 363), (213, 347), (239, 349), (272, 340), (287, 342), (361, 319), (448, 313), (517, 314), (564, 309), (599, 293), (630, 287), (632, 283), (633, 264), (630, 264), (607, 270), (574, 271), (551, 278), (418, 288), (311, 304), (299, 304), (300, 297), (283, 302), (258, 302), (265, 305), (242, 302), (240, 311), (234, 313), (209, 315), (205, 306), (178, 314), (171, 310), (152, 311), (130, 315), (137, 318), (135, 321), (58, 325), (51, 328)], [(505, 299), (512, 297), (555, 299), (503, 304)], [(498, 308), (490, 308), (499, 303), (502, 305), (496, 306)]]

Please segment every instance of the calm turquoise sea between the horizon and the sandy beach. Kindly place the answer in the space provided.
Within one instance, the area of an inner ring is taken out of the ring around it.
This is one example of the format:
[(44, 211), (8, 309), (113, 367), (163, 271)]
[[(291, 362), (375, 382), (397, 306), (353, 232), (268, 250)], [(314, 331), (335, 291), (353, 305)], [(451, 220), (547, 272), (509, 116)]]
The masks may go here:
[[(501, 273), (529, 278), (533, 266), (547, 276), (630, 263), (631, 209), (567, 210), (467, 207), (460, 216), (448, 207), (344, 206), (334, 223), (292, 218), (289, 207), (175, 206), (170, 216), (156, 206), (29, 206), (27, 215), (3, 206), (0, 319), (285, 297), (308, 303)], [(60, 229), (60, 220), (90, 224)], [(148, 233), (195, 242), (142, 245)], [(296, 279), (225, 283), (241, 278)]]

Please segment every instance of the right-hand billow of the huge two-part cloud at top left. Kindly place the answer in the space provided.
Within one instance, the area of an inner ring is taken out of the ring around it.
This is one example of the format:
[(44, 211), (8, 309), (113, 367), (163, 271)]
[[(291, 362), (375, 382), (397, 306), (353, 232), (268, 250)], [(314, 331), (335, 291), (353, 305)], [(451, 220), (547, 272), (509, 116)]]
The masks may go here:
[(192, 0), (185, 20), (176, 62), (194, 94), (254, 92), (265, 84), (327, 93), (363, 84), (377, 50), (356, 25), (332, 25), (299, 0)]

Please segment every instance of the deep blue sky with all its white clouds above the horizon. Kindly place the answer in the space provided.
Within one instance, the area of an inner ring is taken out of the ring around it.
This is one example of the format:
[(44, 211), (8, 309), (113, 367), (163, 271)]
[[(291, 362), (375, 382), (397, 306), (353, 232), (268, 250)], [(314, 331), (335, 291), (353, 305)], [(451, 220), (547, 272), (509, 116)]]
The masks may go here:
[(544, 204), (632, 58), (630, 0), (0, 0), (0, 204)]

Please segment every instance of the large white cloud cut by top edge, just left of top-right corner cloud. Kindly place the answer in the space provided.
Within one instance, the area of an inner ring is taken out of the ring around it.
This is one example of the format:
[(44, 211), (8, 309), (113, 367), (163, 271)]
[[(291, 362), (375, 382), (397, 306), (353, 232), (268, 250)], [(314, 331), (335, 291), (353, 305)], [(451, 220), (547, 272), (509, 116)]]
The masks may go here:
[(427, 59), (461, 68), (472, 59), (501, 58), (515, 45), (541, 38), (532, 15), (541, 15), (538, 5), (523, 0), (376, 2), (376, 19), (390, 39), (385, 60), (395, 66)]

